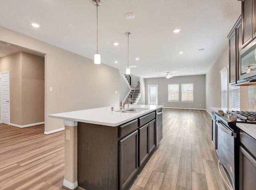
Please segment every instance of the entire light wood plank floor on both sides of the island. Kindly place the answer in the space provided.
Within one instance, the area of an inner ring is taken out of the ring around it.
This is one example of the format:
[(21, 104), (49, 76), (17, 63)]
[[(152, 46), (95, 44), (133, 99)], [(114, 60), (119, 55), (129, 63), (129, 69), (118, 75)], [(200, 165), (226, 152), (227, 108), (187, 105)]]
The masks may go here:
[[(64, 131), (0, 124), (0, 190), (64, 190)], [(164, 109), (163, 139), (131, 190), (225, 190), (205, 111)]]

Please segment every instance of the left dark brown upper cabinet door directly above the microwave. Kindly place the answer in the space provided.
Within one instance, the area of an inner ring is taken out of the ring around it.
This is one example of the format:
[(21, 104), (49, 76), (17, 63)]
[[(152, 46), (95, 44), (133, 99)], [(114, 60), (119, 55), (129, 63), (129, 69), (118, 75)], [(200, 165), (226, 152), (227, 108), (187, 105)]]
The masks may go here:
[(242, 1), (242, 47), (252, 40), (252, 1)]

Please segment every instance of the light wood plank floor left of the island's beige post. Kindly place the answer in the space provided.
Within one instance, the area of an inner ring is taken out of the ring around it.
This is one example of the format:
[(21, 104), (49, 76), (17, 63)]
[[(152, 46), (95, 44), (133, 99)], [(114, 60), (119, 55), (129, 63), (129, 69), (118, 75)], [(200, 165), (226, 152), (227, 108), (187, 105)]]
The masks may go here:
[(0, 190), (64, 190), (64, 131), (0, 124)]

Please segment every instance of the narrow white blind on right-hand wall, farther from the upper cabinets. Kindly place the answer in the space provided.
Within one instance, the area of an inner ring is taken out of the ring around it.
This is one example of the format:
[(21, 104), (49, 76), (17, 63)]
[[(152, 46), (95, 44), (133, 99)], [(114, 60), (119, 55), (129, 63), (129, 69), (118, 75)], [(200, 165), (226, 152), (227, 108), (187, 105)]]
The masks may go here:
[(224, 68), (220, 71), (221, 75), (221, 107), (228, 107), (228, 70)]

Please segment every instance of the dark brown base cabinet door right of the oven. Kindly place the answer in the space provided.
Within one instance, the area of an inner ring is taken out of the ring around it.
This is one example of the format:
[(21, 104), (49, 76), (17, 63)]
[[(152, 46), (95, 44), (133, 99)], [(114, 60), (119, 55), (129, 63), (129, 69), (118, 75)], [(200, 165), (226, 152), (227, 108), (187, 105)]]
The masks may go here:
[(256, 159), (240, 146), (240, 190), (255, 190)]

